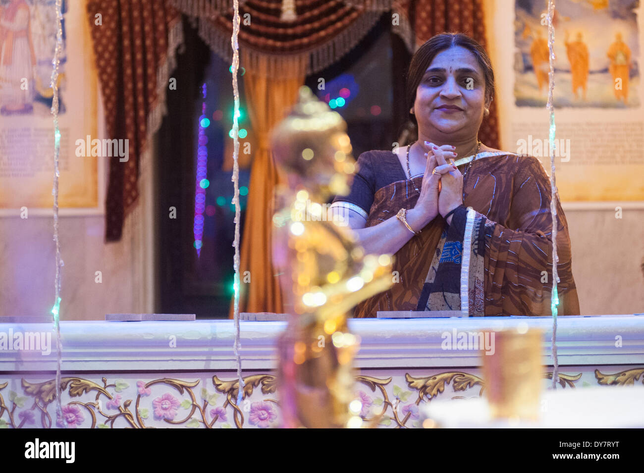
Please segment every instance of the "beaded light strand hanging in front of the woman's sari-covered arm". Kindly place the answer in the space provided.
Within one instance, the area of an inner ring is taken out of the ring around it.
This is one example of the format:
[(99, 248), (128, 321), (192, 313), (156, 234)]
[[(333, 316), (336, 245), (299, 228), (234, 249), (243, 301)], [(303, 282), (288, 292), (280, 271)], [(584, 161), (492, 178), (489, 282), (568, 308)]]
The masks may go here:
[(557, 305), (559, 304), (559, 297), (557, 293), (557, 283), (559, 283), (559, 276), (557, 274), (557, 263), (559, 257), (557, 256), (557, 193), (554, 176), (554, 135), (556, 126), (554, 125), (554, 0), (548, 0), (548, 53), (550, 72), (548, 74), (548, 113), (550, 115), (550, 187), (551, 187), (551, 200), (550, 200), (550, 213), (553, 216), (553, 230), (551, 233), (553, 239), (553, 292), (551, 293), (550, 307), (553, 313), (553, 340), (551, 345), (551, 355), (553, 357), (553, 389), (556, 389), (559, 380), (559, 360), (557, 357)]

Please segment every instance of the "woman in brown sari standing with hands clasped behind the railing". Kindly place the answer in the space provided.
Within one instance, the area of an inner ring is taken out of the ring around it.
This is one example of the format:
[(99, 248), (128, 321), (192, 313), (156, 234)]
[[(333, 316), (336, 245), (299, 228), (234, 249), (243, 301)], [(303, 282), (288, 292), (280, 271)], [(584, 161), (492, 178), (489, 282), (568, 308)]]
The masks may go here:
[[(406, 98), (418, 140), (362, 153), (350, 193), (332, 205), (366, 253), (395, 255), (392, 287), (354, 317), (461, 311), (468, 259), (470, 316), (551, 315), (550, 180), (537, 158), (478, 140), (493, 96), (488, 55), (468, 36), (436, 35), (413, 55)], [(558, 201), (556, 209), (557, 310), (577, 315), (567, 222)]]

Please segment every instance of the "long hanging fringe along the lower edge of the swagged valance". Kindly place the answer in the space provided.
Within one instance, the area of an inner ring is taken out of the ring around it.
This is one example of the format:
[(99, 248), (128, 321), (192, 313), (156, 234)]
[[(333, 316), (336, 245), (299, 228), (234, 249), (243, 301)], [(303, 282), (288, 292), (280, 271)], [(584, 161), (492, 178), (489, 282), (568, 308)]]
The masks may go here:
[[(265, 74), (266, 77), (295, 79), (300, 76), (300, 71), (294, 70), (289, 66), (293, 64), (294, 58), (299, 57), (300, 60), (304, 60), (307, 63), (305, 75), (314, 74), (327, 68), (352, 50), (365, 37), (366, 33), (374, 27), (380, 15), (380, 12), (365, 12), (351, 26), (330, 41), (303, 53), (271, 54), (253, 50), (248, 46), (240, 46), (240, 49), (243, 48), (251, 59), (251, 62), (244, 64), (243, 67), (251, 69), (254, 73)], [(216, 28), (207, 19), (200, 18), (198, 33), (214, 53), (223, 60), (232, 63), (231, 37), (227, 32)], [(260, 71), (256, 68), (260, 57), (268, 58), (267, 70)]]

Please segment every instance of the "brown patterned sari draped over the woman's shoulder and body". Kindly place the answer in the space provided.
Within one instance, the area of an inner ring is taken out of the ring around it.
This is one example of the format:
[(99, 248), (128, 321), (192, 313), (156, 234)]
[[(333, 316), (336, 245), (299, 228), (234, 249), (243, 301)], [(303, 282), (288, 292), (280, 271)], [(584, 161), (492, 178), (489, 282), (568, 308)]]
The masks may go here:
[[(414, 181), (420, 189), (422, 176)], [(464, 259), (469, 259), (468, 315), (551, 315), (551, 186), (541, 162), (513, 153), (479, 153), (463, 190), (463, 205), (451, 225), (439, 215), (413, 236), (395, 254), (392, 288), (361, 302), (354, 317), (392, 310), (461, 310)], [(366, 227), (395, 217), (401, 207), (412, 209), (418, 197), (409, 180), (376, 190)], [(469, 244), (463, 248), (468, 207), (475, 212)], [(568, 225), (558, 195), (556, 209), (557, 311), (578, 315)]]

